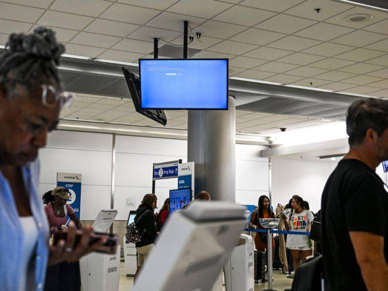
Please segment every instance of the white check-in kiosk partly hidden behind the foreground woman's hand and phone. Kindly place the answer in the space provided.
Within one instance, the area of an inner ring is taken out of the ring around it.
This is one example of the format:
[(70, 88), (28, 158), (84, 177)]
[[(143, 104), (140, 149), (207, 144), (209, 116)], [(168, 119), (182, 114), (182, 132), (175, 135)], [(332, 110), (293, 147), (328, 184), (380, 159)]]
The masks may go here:
[[(106, 232), (112, 225), (117, 210), (100, 210), (93, 223), (93, 230)], [(79, 260), (82, 291), (118, 291), (120, 278), (120, 245), (114, 255), (97, 252)]]

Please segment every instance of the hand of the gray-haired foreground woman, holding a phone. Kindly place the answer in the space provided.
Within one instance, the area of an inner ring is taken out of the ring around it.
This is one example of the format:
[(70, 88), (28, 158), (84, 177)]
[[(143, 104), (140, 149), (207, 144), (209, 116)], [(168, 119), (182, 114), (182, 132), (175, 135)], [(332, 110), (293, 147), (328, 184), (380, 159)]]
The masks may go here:
[(76, 229), (73, 222), (69, 223), (66, 241), (61, 239), (56, 245), (49, 246), (49, 265), (55, 265), (61, 261), (77, 261), (83, 255), (93, 251), (103, 252), (106, 254), (116, 253), (117, 246), (104, 246), (108, 236), (102, 237), (97, 242), (90, 244), (89, 241), (93, 234), (90, 225), (86, 225), (81, 233), (81, 239), (77, 245), (75, 243)]

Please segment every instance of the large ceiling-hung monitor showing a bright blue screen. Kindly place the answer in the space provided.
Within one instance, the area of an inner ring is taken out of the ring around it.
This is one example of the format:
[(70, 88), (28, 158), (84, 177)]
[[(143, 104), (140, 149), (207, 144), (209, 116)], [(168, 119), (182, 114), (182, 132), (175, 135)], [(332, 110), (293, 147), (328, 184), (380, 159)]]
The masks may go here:
[(228, 109), (228, 59), (140, 59), (142, 109)]

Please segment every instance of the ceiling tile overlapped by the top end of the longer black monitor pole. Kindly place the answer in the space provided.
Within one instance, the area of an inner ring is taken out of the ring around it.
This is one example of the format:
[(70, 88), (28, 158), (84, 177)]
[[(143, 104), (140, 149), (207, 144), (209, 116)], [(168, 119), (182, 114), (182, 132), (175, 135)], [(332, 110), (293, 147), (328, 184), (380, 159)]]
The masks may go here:
[(204, 18), (164, 12), (147, 23), (147, 26), (183, 32), (183, 22), (185, 20), (189, 22), (191, 28), (195, 28), (206, 21)]

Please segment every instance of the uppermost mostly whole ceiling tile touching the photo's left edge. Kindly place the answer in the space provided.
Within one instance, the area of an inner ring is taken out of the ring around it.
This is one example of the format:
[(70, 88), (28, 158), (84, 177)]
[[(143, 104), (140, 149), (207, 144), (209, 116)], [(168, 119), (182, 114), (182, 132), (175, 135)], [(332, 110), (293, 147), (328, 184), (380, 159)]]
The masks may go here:
[(35, 23), (44, 9), (0, 2), (0, 18)]

